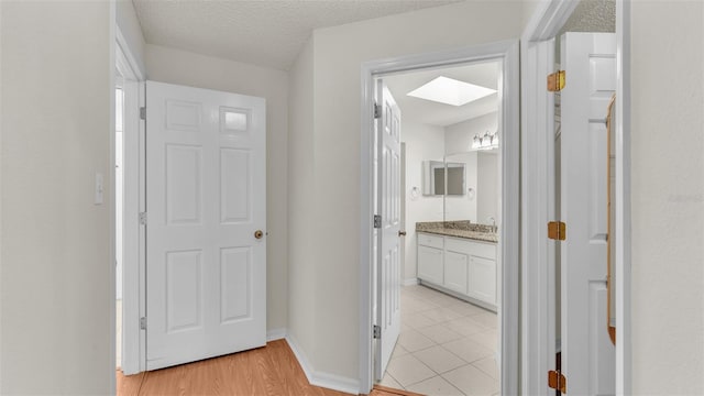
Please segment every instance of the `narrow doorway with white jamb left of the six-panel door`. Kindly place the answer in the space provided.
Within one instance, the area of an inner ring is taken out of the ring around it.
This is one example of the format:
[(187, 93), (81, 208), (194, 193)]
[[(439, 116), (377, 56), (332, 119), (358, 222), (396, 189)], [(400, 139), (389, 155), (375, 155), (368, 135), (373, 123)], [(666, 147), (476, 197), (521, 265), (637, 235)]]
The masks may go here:
[(124, 36), (117, 31), (116, 45), (116, 133), (114, 244), (116, 244), (116, 369), (124, 375), (144, 371), (144, 100), (143, 74)]

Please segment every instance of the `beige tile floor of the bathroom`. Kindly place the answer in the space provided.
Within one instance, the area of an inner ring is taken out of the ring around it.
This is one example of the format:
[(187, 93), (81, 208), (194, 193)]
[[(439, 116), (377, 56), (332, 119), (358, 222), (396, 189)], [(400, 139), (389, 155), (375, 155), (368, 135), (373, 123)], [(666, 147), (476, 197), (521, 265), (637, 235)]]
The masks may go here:
[(497, 395), (496, 314), (425, 286), (402, 288), (400, 337), (381, 385), (430, 396)]

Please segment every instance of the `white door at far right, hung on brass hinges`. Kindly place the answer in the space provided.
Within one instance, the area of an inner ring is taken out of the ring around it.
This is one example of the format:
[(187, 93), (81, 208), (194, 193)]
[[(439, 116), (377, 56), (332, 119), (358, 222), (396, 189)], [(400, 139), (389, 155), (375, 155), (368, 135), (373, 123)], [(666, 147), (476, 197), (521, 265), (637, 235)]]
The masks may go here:
[(615, 349), (607, 331), (606, 113), (616, 89), (616, 36), (566, 33), (561, 91), (562, 373), (570, 395), (615, 393)]

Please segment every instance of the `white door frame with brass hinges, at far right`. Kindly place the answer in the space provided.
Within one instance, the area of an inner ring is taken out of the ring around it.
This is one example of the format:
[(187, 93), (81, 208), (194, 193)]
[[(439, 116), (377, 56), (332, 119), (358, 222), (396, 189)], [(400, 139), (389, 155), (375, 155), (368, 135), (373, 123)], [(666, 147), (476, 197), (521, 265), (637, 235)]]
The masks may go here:
[[(554, 72), (556, 35), (576, 1), (543, 0), (521, 37), (521, 393), (547, 392), (554, 365), (553, 96), (546, 76)], [(616, 394), (630, 394), (630, 0), (616, 1)], [(552, 46), (551, 46), (552, 44)], [(569, 84), (569, 82), (568, 82)]]

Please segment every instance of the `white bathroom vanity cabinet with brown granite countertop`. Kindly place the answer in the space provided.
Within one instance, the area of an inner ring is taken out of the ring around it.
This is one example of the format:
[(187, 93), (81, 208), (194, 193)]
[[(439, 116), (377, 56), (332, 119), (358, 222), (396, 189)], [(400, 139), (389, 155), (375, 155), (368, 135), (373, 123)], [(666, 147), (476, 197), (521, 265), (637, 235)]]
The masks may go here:
[(497, 237), (492, 227), (419, 222), (416, 232), (421, 284), (496, 311)]

